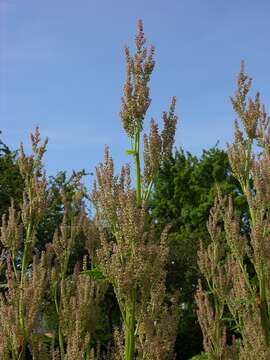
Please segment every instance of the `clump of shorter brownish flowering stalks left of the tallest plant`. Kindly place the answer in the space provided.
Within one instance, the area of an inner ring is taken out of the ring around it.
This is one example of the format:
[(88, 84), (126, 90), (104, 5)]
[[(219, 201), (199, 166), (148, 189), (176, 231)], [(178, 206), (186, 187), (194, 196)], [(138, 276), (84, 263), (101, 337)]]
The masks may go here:
[[(21, 146), (17, 163), (24, 181), (23, 202), (3, 215), (0, 297), (1, 359), (86, 359), (93, 352), (103, 284), (85, 275), (87, 258), (71, 266), (79, 237), (89, 233), (83, 189), (62, 195), (62, 223), (45, 250), (37, 230), (50, 204), (42, 158), (47, 140), (31, 135), (32, 155)], [(79, 181), (79, 178), (77, 179)], [(90, 239), (88, 239), (88, 242)]]

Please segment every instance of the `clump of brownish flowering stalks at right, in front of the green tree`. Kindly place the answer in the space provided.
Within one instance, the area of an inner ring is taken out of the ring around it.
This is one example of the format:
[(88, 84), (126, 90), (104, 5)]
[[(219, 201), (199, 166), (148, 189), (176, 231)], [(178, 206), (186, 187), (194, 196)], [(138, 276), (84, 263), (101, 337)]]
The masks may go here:
[(248, 212), (240, 214), (232, 197), (218, 191), (208, 222), (211, 243), (199, 251), (204, 279), (196, 300), (209, 359), (270, 357), (270, 119), (259, 93), (248, 97), (250, 88), (242, 63), (228, 156)]

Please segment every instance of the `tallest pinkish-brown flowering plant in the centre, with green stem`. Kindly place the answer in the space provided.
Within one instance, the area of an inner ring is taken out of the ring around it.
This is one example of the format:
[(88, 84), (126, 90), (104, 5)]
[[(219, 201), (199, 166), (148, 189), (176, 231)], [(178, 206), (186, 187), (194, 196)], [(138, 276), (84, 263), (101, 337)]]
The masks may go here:
[[(154, 224), (149, 224), (147, 207), (159, 167), (165, 157), (171, 156), (176, 128), (175, 99), (170, 111), (163, 115), (162, 134), (152, 120), (149, 135), (144, 135), (142, 171), (140, 144), (144, 118), (151, 102), (148, 83), (154, 69), (154, 48), (148, 51), (144, 46), (141, 21), (135, 44), (134, 57), (125, 49), (127, 80), (120, 111), (131, 144), (127, 154), (134, 160), (135, 189), (132, 188), (129, 165), (123, 166), (120, 176), (114, 175), (114, 163), (106, 148), (104, 163), (97, 167), (97, 181), (92, 193), (101, 237), (97, 258), (98, 266), (114, 287), (123, 317), (124, 349), (120, 356), (125, 360), (134, 360), (137, 356), (170, 359), (177, 312), (165, 305), (166, 232), (157, 239)], [(171, 328), (168, 329), (165, 324), (170, 321)], [(149, 324), (152, 327), (149, 328)], [(166, 337), (162, 336), (164, 332), (167, 332)]]

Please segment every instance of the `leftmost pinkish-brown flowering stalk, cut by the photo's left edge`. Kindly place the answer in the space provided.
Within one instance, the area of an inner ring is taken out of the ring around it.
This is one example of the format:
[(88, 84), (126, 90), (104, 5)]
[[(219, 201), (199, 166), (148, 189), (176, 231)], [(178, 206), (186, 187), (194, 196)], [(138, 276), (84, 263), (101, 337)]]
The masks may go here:
[[(21, 145), (18, 166), (24, 181), (21, 211), (12, 202), (1, 226), (1, 243), (7, 268), (6, 300), (0, 301), (1, 334), (5, 338), (7, 354), (24, 360), (26, 349), (41, 311), (46, 284), (45, 257), (33, 256), (36, 227), (46, 210), (46, 178), (42, 173), (42, 157), (47, 139), (40, 145), (37, 128), (31, 135), (33, 154), (26, 156)], [(19, 261), (20, 260), (20, 261)], [(31, 264), (31, 267), (29, 266)], [(39, 271), (39, 274), (34, 273)], [(11, 330), (13, 328), (13, 330)]]

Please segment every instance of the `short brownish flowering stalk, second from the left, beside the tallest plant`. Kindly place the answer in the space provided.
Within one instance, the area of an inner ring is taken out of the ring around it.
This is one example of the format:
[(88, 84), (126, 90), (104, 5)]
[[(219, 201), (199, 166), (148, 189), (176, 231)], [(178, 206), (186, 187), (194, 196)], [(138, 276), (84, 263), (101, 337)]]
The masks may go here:
[(92, 238), (94, 225), (85, 211), (85, 192), (79, 173), (73, 190), (72, 194), (65, 190), (61, 193), (63, 218), (50, 246), (53, 254), (51, 297), (57, 318), (54, 338), (61, 360), (85, 360), (94, 351), (93, 337), (99, 320), (99, 304), (104, 295), (103, 283), (96, 282), (91, 271), (87, 270), (87, 256), (72, 265), (76, 242), (85, 242), (87, 237), (91, 248), (95, 240)]

